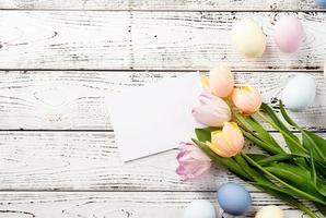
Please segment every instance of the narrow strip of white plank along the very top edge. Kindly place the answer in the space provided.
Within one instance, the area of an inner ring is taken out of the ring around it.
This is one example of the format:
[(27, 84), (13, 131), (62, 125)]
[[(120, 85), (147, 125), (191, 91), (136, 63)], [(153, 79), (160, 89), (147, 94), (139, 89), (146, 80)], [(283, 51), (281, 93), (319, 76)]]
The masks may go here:
[(185, 11), (319, 11), (314, 0), (1, 0), (1, 9), (37, 9), (37, 10), (185, 10)]

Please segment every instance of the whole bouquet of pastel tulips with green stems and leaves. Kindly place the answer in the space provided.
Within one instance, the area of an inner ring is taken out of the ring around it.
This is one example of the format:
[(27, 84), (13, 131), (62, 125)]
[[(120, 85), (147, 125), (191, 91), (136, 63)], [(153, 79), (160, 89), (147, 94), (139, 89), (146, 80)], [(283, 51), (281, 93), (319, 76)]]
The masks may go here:
[[(219, 66), (202, 77), (205, 92), (194, 118), (206, 128), (196, 129), (194, 143), (178, 147), (176, 169), (183, 180), (191, 180), (212, 164), (223, 166), (244, 181), (279, 197), (313, 218), (318, 217), (301, 201), (310, 201), (326, 216), (326, 140), (299, 126), (280, 101), (280, 119), (261, 102), (253, 86), (234, 87), (228, 66)], [(258, 120), (279, 132), (287, 146), (281, 146)], [(300, 135), (293, 134), (289, 125)], [(244, 152), (245, 140), (261, 153)]]

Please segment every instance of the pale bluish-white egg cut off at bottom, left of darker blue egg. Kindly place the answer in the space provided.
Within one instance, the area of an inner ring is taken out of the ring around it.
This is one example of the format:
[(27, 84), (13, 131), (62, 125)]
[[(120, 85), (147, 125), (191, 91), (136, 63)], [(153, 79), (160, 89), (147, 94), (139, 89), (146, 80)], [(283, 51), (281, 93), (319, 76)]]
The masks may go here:
[(196, 199), (186, 208), (184, 218), (216, 218), (214, 206), (206, 199)]

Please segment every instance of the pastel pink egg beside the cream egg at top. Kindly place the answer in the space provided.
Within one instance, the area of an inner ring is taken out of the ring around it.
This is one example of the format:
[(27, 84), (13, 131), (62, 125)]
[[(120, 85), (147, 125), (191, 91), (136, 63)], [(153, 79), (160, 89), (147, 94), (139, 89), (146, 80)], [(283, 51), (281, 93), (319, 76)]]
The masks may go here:
[(287, 53), (295, 52), (304, 38), (303, 26), (299, 19), (291, 15), (281, 16), (273, 27), (273, 40), (279, 49)]

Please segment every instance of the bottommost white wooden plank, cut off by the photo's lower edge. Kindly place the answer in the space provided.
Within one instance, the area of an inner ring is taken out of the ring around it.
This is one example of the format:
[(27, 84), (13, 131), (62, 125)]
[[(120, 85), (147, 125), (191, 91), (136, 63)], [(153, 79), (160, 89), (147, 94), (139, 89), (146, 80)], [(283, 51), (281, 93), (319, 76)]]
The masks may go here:
[[(221, 217), (214, 195), (214, 192), (0, 192), (0, 216), (179, 218), (191, 201), (208, 199)], [(269, 204), (280, 206), (288, 218), (305, 218), (301, 211), (260, 193), (254, 195), (246, 217), (254, 217), (256, 210)]]

